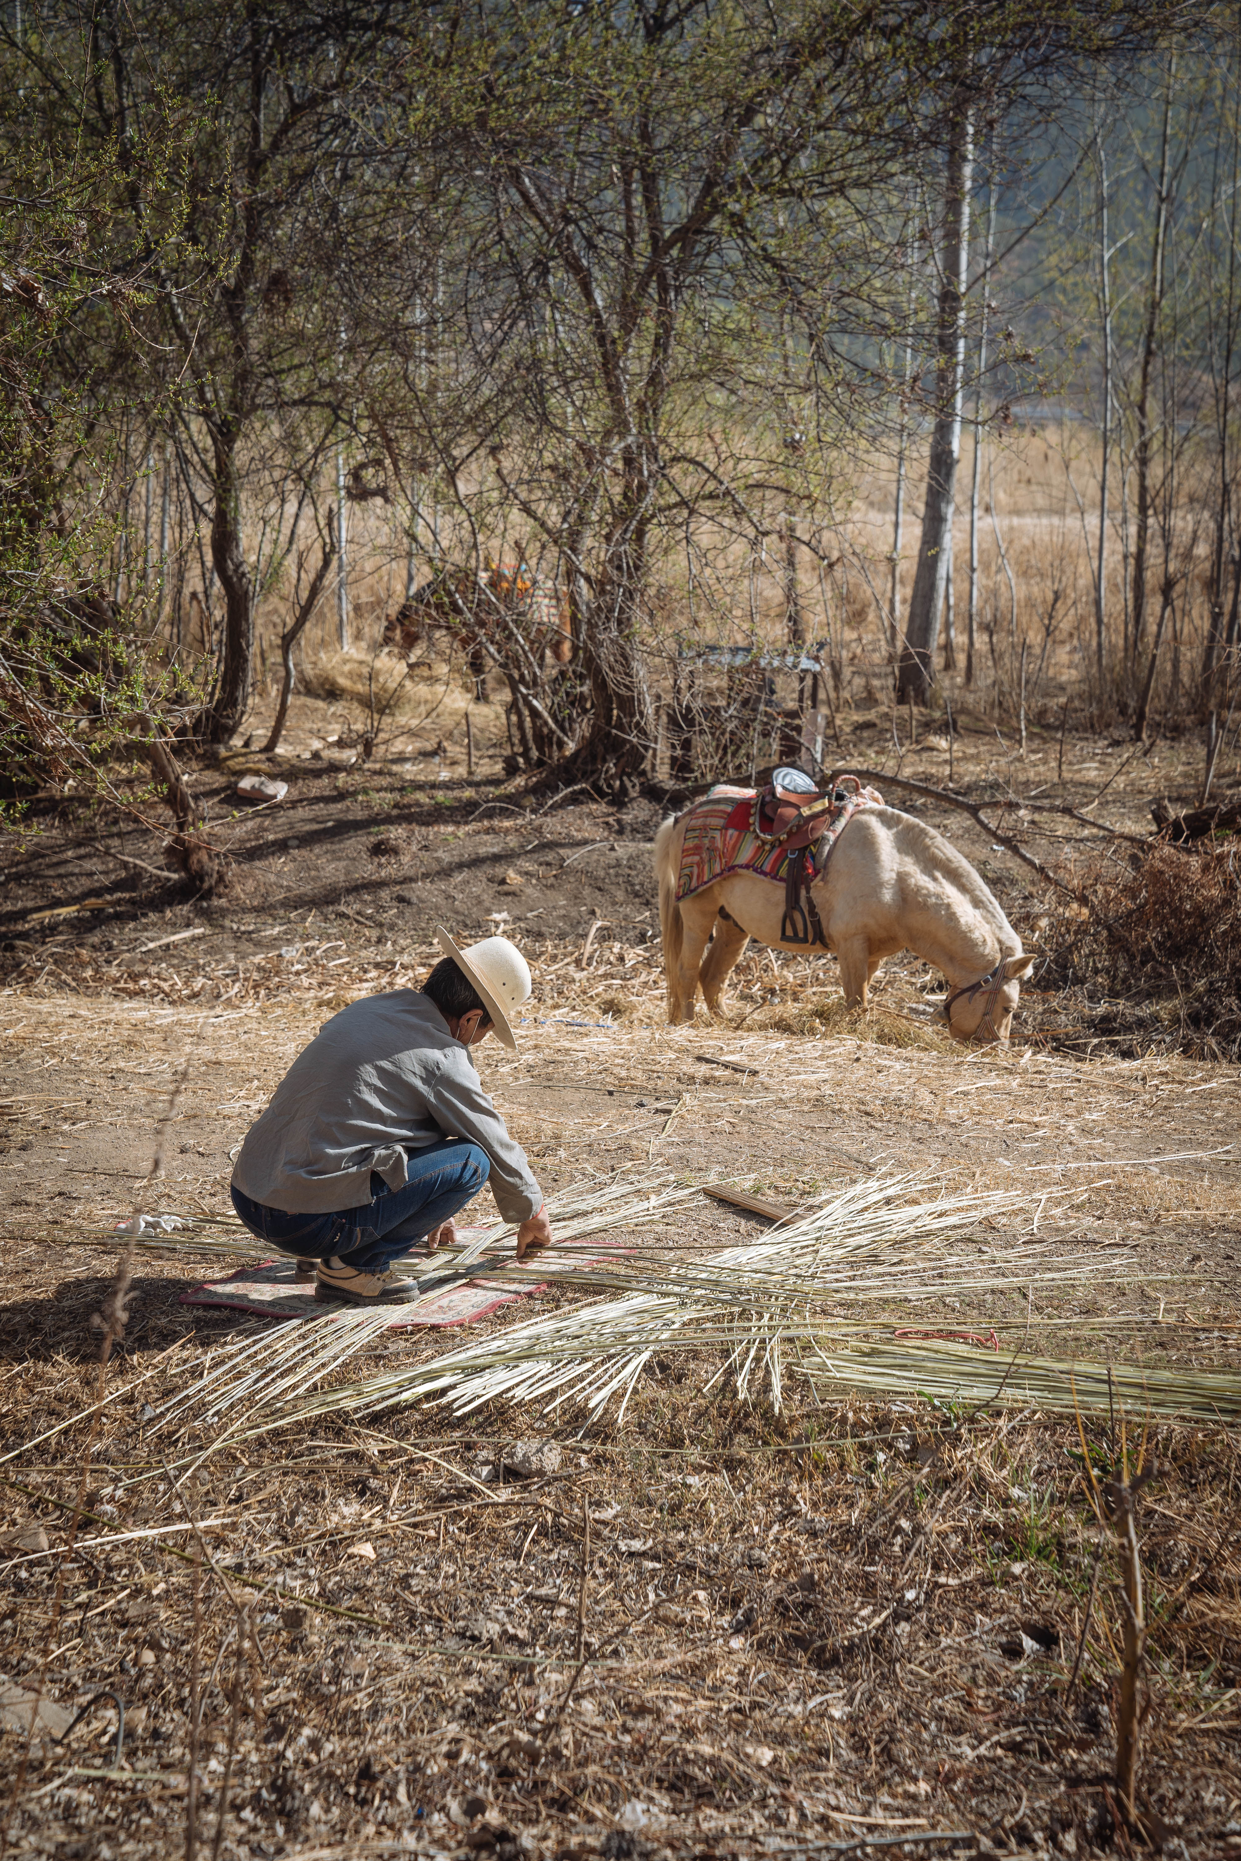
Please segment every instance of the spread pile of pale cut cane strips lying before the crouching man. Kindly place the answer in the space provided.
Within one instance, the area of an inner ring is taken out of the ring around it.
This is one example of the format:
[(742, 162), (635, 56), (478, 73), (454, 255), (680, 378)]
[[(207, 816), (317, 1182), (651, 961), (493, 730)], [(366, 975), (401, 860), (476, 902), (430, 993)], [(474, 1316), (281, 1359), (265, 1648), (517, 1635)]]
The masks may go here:
[[(1109, 1370), (1096, 1362), (1012, 1359), (951, 1340), (876, 1338), (874, 1306), (893, 1297), (941, 1299), (995, 1290), (1081, 1284), (1126, 1262), (1098, 1252), (1049, 1256), (1027, 1239), (997, 1258), (949, 1251), (981, 1219), (1012, 1213), (1014, 1193), (928, 1195), (914, 1178), (878, 1178), (811, 1208), (761, 1241), (703, 1260), (668, 1260), (666, 1249), (638, 1245), (625, 1256), (582, 1267), (575, 1280), (623, 1290), (567, 1312), (538, 1314), (497, 1336), (415, 1364), (396, 1364), (354, 1385), (324, 1388), (350, 1347), (370, 1342), (376, 1314), (340, 1314), (320, 1325), (285, 1327), (266, 1351), (247, 1346), (199, 1385), (175, 1398), (162, 1426), (192, 1414), (225, 1427), (233, 1440), (329, 1412), (368, 1412), (420, 1399), (447, 1401), (465, 1414), (495, 1399), (584, 1407), (597, 1414), (620, 1398), (620, 1418), (642, 1372), (668, 1349), (724, 1353), (744, 1396), (767, 1379), (776, 1403), (794, 1373), (821, 1394), (845, 1390), (919, 1392), (973, 1405), (1107, 1409), (1120, 1401), (1159, 1414), (1241, 1416), (1241, 1379), (1196, 1372)], [(921, 1191), (921, 1200), (910, 1200)], [(668, 1200), (675, 1198), (675, 1191)], [(506, 1277), (538, 1275), (538, 1265)], [(841, 1306), (848, 1310), (841, 1314)], [(867, 1310), (871, 1308), (871, 1310)], [(713, 1383), (724, 1370), (716, 1372)], [(709, 1385), (711, 1386), (711, 1385)], [(240, 1412), (238, 1412), (240, 1411)], [(221, 1437), (216, 1437), (216, 1442)], [(208, 1450), (210, 1452), (210, 1450)]]

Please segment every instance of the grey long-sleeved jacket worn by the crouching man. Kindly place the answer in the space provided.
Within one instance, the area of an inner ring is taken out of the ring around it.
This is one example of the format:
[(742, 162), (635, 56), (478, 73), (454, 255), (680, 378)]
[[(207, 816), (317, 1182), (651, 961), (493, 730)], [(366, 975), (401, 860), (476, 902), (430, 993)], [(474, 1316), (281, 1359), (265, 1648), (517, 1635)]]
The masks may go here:
[(290, 1215), (370, 1202), (370, 1172), (404, 1189), (411, 1150), (465, 1137), (491, 1159), (506, 1221), (543, 1206), (525, 1150), (478, 1083), (469, 1050), (415, 988), (367, 996), (333, 1014), (292, 1063), (242, 1145), (233, 1182)]

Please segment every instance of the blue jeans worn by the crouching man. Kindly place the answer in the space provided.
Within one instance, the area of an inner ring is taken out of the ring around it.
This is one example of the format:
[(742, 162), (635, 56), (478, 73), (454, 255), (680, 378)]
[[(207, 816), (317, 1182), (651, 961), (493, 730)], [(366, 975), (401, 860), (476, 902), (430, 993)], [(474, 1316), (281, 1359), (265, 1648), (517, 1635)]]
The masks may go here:
[(233, 1208), (251, 1234), (283, 1254), (329, 1260), (333, 1254), (359, 1273), (381, 1273), (434, 1228), (478, 1195), (491, 1172), (487, 1152), (458, 1137), (411, 1150), (404, 1189), (370, 1176), (370, 1202), (335, 1215), (288, 1215), (251, 1202), (236, 1185)]

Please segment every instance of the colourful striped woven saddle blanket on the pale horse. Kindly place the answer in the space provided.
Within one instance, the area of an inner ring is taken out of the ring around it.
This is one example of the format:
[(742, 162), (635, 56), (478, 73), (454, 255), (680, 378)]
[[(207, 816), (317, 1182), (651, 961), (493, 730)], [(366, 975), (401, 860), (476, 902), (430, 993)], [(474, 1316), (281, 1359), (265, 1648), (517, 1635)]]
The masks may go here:
[(781, 800), (770, 789), (718, 785), (692, 802), (683, 817), (677, 899), (688, 899), (729, 873), (754, 873), (783, 886), (789, 862), (804, 847), (809, 847), (806, 862), (813, 862), (807, 878), (817, 878), (858, 810), (884, 806), (878, 789), (863, 789), (856, 776), (841, 776), (830, 793), (807, 797), (806, 808), (789, 810)]

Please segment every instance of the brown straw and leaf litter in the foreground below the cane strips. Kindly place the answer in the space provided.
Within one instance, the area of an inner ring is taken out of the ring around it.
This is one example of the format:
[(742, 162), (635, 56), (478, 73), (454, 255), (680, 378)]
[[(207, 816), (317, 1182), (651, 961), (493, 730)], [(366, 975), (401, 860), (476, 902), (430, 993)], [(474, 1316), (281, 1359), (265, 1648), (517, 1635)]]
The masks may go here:
[[(964, 1861), (979, 1835), (1008, 1854), (1116, 1841), (1103, 1790), (1062, 1781), (1111, 1772), (1124, 1625), (1074, 1426), (928, 1429), (867, 1403), (781, 1426), (703, 1399), (675, 1364), (634, 1401), (640, 1446), (562, 1437), (558, 1470), (534, 1478), (504, 1474), (500, 1416), (467, 1437), (324, 1416), (279, 1455), (225, 1453), (154, 1498), (115, 1491), (134, 1450), (108, 1427), (80, 1532), (99, 1586), (69, 1586), (52, 1662), (58, 1481), (24, 1465), (17, 1496), (52, 1554), (6, 1571), (22, 1599), (6, 1662), (58, 1703), (112, 1684), (127, 1734), (121, 1777), (102, 1775), (106, 1707), (67, 1755), (35, 1747), (13, 1833), (71, 1844), (104, 1826), (166, 1855), (193, 1775), (208, 1839), (223, 1814), (225, 1852), (301, 1861), (467, 1844), (500, 1861), (508, 1841), (514, 1861), (636, 1842), (757, 1861), (932, 1831), (958, 1831), (932, 1852)], [(1105, 1463), (1105, 1424), (1088, 1446)], [(1142, 1528), (1167, 1602), (1139, 1794), (1198, 1852), (1241, 1781), (1235, 1444), (1157, 1446)]]

